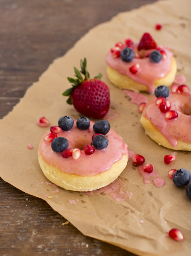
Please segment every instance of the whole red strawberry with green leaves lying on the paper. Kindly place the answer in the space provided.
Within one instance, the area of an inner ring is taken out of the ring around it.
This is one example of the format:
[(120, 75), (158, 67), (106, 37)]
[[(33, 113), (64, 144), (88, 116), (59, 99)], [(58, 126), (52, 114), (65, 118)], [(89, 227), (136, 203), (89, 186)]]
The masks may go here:
[[(74, 108), (86, 116), (94, 118), (102, 118), (109, 110), (110, 94), (108, 86), (100, 81), (102, 74), (98, 74), (93, 79), (89, 79), (87, 72), (87, 61), (80, 61), (81, 71), (74, 67), (77, 79), (69, 78), (72, 88), (63, 92), (64, 96), (70, 96), (67, 100), (68, 104), (73, 104)], [(84, 79), (81, 76), (84, 75)]]

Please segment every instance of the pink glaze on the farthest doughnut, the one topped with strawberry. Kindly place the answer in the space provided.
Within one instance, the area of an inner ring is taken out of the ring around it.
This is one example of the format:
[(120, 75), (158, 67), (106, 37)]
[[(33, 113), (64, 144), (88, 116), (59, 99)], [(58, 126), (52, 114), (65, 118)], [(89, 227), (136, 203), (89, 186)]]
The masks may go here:
[[(111, 68), (118, 71), (120, 74), (132, 78), (134, 81), (145, 84), (148, 87), (148, 92), (154, 92), (155, 80), (163, 78), (171, 70), (172, 52), (165, 49), (167, 58), (162, 59), (159, 63), (152, 63), (148, 57), (145, 57), (147, 53), (151, 53), (154, 50), (141, 50), (139, 55), (143, 58), (134, 58), (131, 62), (122, 61), (121, 58), (113, 58), (112, 53), (108, 52), (105, 61)], [(138, 43), (134, 43), (134, 53), (138, 53)], [(132, 74), (129, 68), (135, 64), (140, 65), (140, 70), (136, 74)]]

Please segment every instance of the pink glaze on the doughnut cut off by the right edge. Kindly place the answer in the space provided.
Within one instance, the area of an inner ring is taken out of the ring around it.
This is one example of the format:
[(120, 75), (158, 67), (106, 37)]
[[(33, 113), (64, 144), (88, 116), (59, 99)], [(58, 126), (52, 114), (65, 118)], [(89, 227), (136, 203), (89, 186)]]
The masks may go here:
[(171, 102), (170, 110), (177, 111), (177, 118), (167, 120), (165, 114), (155, 104), (156, 97), (153, 97), (146, 104), (142, 115), (151, 122), (152, 126), (159, 130), (173, 147), (176, 147), (177, 140), (191, 143), (191, 94), (170, 92), (167, 99)]

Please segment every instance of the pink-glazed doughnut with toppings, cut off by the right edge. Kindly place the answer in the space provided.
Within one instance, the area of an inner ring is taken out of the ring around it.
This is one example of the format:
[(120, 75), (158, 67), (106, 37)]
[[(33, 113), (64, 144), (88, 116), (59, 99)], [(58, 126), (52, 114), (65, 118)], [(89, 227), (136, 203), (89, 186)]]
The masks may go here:
[(145, 133), (168, 149), (191, 151), (191, 93), (188, 86), (173, 85), (170, 92), (166, 86), (159, 86), (155, 95), (157, 97), (147, 102), (142, 112), (140, 121)]

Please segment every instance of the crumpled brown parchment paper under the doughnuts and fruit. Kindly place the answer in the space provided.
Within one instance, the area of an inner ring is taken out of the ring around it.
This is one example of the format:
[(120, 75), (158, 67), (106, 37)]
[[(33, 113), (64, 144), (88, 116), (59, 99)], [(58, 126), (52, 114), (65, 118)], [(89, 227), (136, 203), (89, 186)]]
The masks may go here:
[[(0, 122), (1, 177), (20, 190), (46, 200), (84, 235), (138, 255), (190, 255), (191, 201), (185, 188), (176, 187), (167, 172), (171, 168), (187, 168), (191, 172), (191, 153), (178, 151), (175, 162), (164, 164), (164, 155), (173, 150), (159, 146), (144, 134), (138, 106), (131, 104), (123, 91), (108, 81), (104, 61), (114, 43), (125, 38), (138, 41), (147, 31), (159, 45), (173, 48), (178, 74), (184, 74), (186, 84), (190, 86), (190, 10), (190, 0), (170, 0), (120, 13), (90, 30), (65, 56), (56, 59)], [(155, 23), (161, 23), (163, 29), (156, 31)], [(73, 77), (73, 66), (79, 68), (79, 60), (85, 56), (91, 76), (99, 72), (103, 74), (102, 80), (110, 88), (111, 106), (120, 111), (120, 115), (110, 121), (111, 127), (124, 138), (129, 150), (144, 155), (146, 162), (155, 166), (166, 182), (164, 187), (154, 187), (152, 182), (145, 185), (130, 160), (120, 178), (133, 197), (123, 202), (114, 201), (108, 195), (87, 196), (62, 188), (59, 193), (52, 193), (53, 188), (39, 185), (39, 182), (48, 182), (37, 158), (39, 141), (47, 128), (38, 127), (36, 121), (45, 116), (51, 125), (57, 125), (60, 116), (80, 116), (73, 106), (66, 104), (62, 92), (70, 86), (67, 76)], [(34, 149), (29, 150), (28, 144)], [(47, 188), (52, 199), (44, 197)], [(76, 205), (70, 204), (69, 200), (76, 200)], [(183, 242), (168, 237), (167, 232), (172, 228), (183, 232)]]

